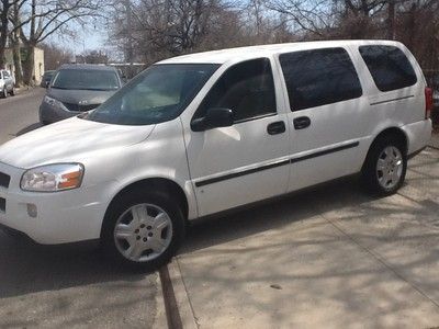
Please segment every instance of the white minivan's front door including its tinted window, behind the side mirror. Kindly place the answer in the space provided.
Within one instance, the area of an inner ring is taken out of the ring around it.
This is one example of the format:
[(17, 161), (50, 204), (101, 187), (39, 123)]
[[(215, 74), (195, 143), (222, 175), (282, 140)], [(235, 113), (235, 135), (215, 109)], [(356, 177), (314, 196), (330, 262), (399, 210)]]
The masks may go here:
[(234, 112), (234, 125), (193, 132), (185, 124), (188, 161), (204, 216), (285, 192), (289, 132), (272, 59), (233, 65), (217, 79), (194, 118), (209, 109)]

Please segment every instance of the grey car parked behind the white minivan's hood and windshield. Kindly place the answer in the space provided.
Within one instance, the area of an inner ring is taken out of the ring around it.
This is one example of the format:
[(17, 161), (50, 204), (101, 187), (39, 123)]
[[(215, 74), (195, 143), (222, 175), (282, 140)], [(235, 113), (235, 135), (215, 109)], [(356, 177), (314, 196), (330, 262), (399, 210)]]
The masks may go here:
[(45, 125), (93, 110), (121, 86), (113, 67), (64, 65), (53, 77), (40, 106), (40, 122)]

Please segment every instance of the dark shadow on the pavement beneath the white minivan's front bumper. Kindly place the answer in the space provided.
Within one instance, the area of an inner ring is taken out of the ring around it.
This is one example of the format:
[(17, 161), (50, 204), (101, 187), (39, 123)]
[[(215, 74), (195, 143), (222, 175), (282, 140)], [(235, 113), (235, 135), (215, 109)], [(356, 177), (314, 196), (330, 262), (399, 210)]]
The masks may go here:
[(40, 246), (1, 230), (0, 264), (0, 298), (145, 276), (115, 266), (95, 248)]

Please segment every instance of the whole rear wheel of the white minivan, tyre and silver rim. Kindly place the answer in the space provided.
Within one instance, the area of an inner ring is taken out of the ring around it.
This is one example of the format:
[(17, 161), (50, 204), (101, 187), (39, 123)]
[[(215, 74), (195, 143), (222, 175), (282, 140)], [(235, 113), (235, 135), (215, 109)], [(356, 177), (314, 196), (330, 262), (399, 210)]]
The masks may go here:
[(403, 185), (406, 170), (404, 143), (395, 136), (386, 136), (376, 140), (369, 150), (362, 179), (370, 192), (390, 195)]

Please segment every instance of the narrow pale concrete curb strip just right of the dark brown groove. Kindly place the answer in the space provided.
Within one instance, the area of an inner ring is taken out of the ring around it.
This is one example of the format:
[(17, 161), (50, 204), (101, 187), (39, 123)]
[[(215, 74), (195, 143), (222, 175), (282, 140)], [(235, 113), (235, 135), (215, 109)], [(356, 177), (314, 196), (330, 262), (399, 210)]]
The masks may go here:
[(196, 324), (196, 317), (193, 313), (192, 304), (189, 299), (177, 258), (173, 258), (168, 264), (168, 270), (182, 327), (184, 329), (198, 329), (199, 325)]

